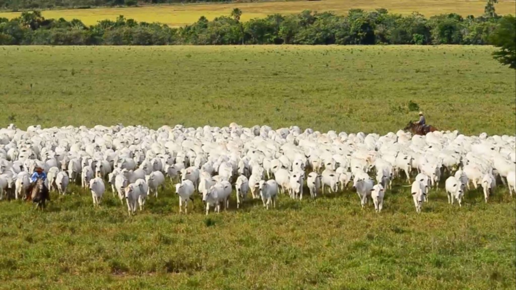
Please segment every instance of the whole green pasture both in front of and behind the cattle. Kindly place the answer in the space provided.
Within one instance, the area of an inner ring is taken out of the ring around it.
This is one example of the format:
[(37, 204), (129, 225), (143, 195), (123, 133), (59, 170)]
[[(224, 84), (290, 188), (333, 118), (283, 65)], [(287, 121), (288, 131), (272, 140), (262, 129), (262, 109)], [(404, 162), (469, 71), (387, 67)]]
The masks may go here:
[[(396, 131), (429, 123), (514, 135), (514, 70), (482, 46), (0, 47), (0, 125), (184, 123)], [(417, 215), (351, 190), (278, 208), (178, 214), (167, 191), (128, 218), (78, 188), (46, 212), (0, 202), (2, 289), (514, 289), (516, 202), (499, 186), (462, 208), (443, 185)]]

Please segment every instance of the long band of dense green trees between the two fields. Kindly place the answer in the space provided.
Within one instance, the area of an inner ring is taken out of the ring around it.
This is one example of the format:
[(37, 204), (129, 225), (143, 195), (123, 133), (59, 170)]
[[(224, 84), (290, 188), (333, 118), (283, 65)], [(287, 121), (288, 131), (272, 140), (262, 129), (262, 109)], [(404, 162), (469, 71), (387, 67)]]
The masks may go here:
[(224, 44), (492, 44), (490, 35), (503, 19), (495, 13), (463, 18), (457, 13), (425, 18), (386, 9), (352, 9), (346, 15), (305, 10), (271, 14), (241, 22), (242, 12), (184, 27), (137, 22), (120, 15), (87, 26), (73, 19), (45, 19), (40, 11), (0, 18), (0, 45), (224, 45)]

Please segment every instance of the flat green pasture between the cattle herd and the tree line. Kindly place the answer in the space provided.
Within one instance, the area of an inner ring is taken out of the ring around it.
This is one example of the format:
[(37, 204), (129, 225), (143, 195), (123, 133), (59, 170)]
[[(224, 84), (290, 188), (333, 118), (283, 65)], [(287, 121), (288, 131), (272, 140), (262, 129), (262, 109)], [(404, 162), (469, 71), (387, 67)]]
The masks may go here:
[[(0, 47), (0, 125), (163, 124), (396, 132), (417, 118), (516, 131), (489, 46)], [(412, 109), (412, 111), (409, 110)]]

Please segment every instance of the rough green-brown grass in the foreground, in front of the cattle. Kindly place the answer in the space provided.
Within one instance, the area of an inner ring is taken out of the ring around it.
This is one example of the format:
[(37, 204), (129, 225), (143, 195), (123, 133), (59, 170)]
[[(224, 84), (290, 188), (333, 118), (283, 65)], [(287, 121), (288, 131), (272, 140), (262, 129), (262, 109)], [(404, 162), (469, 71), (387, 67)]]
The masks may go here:
[(310, 200), (280, 196), (188, 215), (167, 186), (129, 218), (111, 192), (53, 201), (46, 212), (0, 202), (0, 289), (514, 289), (514, 198), (481, 190), (461, 208), (430, 192), (417, 215), (409, 191), (388, 191), (384, 211), (361, 210), (351, 190)]

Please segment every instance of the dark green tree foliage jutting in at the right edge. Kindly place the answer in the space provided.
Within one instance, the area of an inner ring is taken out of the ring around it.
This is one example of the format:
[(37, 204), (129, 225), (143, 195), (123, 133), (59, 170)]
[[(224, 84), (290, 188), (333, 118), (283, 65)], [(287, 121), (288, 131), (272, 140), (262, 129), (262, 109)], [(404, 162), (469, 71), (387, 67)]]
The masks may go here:
[(516, 18), (507, 15), (502, 18), (491, 35), (491, 43), (500, 50), (494, 58), (511, 69), (516, 69)]

